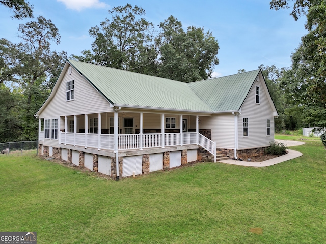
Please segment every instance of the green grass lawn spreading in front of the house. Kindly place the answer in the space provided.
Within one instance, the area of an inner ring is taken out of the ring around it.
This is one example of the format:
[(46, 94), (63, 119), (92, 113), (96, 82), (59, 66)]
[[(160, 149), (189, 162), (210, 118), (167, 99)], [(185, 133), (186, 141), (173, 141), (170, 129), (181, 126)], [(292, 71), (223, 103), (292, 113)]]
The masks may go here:
[(120, 181), (1, 157), (0, 231), (37, 231), (38, 243), (326, 243), (326, 150), (305, 142), (291, 147), (302, 157), (266, 168), (198, 163)]

